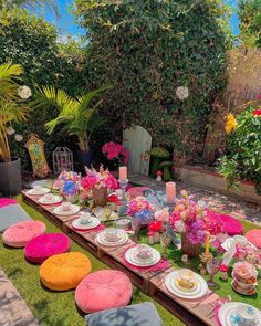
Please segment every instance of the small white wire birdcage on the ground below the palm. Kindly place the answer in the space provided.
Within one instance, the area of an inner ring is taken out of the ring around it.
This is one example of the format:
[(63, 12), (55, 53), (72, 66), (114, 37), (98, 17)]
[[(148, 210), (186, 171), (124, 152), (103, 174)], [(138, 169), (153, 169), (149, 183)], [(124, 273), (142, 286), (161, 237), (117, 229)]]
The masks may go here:
[(53, 151), (53, 172), (73, 171), (73, 154), (67, 147), (56, 147)]

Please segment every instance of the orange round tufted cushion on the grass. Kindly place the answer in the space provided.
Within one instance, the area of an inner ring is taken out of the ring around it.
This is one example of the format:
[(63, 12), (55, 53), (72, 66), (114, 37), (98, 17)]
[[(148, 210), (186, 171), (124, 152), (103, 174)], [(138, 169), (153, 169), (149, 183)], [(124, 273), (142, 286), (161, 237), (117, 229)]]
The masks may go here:
[(61, 253), (44, 261), (40, 267), (42, 283), (54, 291), (74, 288), (91, 272), (88, 257), (80, 252)]

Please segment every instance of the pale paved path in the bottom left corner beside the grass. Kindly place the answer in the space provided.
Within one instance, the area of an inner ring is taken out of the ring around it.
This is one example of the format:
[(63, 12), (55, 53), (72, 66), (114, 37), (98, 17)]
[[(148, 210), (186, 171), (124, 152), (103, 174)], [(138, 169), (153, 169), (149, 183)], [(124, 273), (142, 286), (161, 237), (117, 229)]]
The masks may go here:
[(24, 299), (0, 269), (0, 325), (38, 326), (39, 323)]

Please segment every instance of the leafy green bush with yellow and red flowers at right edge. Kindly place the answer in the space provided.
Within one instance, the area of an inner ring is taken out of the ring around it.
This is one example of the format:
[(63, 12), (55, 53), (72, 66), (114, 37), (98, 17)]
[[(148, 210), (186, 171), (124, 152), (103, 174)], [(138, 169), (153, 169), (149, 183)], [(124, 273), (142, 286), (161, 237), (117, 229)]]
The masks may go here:
[(261, 193), (261, 116), (254, 115), (251, 107), (238, 115), (237, 122), (217, 169), (228, 180), (229, 188), (239, 186), (237, 179), (251, 180)]

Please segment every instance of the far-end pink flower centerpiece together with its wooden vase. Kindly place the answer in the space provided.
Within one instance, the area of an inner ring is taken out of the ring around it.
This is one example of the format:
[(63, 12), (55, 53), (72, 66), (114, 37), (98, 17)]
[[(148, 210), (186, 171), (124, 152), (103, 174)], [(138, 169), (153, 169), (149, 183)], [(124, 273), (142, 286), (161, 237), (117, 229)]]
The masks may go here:
[(107, 203), (107, 190), (114, 191), (118, 188), (118, 182), (108, 170), (101, 166), (98, 171), (86, 169), (86, 177), (82, 178), (81, 187), (85, 191), (92, 191), (95, 206), (104, 207)]

